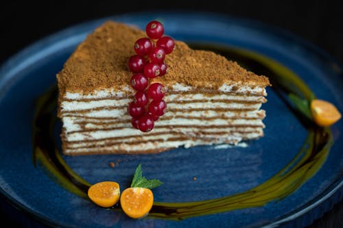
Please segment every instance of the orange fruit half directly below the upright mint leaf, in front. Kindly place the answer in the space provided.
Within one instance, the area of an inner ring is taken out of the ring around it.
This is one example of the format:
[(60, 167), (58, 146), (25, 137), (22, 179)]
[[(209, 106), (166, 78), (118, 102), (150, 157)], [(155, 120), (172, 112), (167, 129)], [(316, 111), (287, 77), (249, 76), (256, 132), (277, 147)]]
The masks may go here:
[(154, 202), (154, 195), (148, 188), (126, 188), (120, 196), (121, 209), (130, 218), (146, 216)]

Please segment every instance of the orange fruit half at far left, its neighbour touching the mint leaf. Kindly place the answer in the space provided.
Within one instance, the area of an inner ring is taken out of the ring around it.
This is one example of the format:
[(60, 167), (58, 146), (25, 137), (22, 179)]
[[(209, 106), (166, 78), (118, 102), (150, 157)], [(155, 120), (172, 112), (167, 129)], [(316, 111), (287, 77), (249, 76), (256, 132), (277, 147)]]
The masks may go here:
[(119, 183), (114, 181), (102, 181), (88, 188), (88, 197), (101, 207), (112, 207), (119, 200)]

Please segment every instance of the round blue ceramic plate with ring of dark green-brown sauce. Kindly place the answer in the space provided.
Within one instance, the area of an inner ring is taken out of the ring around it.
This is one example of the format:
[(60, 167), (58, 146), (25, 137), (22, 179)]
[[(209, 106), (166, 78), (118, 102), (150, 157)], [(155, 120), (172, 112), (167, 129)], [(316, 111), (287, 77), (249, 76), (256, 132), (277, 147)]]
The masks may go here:
[[(270, 77), (265, 136), (246, 147), (156, 155), (38, 153), (54, 151), (50, 134), (60, 148), (60, 123), (49, 129), (45, 118), (55, 115), (54, 93), (45, 95), (50, 100), (40, 99), (43, 110), (37, 99), (56, 86), (56, 73), (86, 34), (108, 19), (143, 28), (155, 18), (169, 36)], [(222, 15), (127, 14), (65, 29), (27, 47), (0, 70), (0, 192), (22, 211), (58, 227), (304, 227), (342, 196), (343, 121), (330, 129), (316, 127), (294, 99), (306, 103), (316, 96), (342, 112), (341, 71), (329, 55), (292, 34)], [(117, 181), (123, 190), (138, 164), (147, 178), (164, 182), (153, 190), (156, 203), (149, 216), (133, 220), (120, 207), (104, 209), (84, 197), (88, 183), (98, 181)]]

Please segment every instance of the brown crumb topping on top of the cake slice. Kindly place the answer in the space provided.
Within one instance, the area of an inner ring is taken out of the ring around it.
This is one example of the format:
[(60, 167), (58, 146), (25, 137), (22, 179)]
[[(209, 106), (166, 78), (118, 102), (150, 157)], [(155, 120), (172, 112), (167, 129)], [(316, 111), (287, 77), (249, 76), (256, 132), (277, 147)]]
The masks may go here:
[[(134, 55), (134, 42), (146, 37), (144, 31), (123, 23), (107, 21), (89, 34), (57, 75), (61, 97), (65, 92), (90, 94), (95, 90), (113, 88), (130, 92), (128, 59)], [(178, 83), (194, 89), (216, 89), (223, 84), (269, 86), (267, 77), (255, 75), (236, 62), (211, 51), (190, 49), (176, 41), (176, 49), (165, 58), (167, 74), (160, 81), (166, 88)]]

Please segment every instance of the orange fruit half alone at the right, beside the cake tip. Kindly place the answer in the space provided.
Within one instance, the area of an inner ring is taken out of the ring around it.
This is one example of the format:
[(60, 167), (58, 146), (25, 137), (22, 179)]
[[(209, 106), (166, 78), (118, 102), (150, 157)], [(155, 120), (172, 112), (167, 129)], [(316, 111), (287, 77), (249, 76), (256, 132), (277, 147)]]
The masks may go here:
[(322, 127), (333, 125), (342, 117), (335, 105), (319, 99), (311, 101), (311, 114), (314, 122)]

